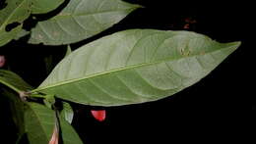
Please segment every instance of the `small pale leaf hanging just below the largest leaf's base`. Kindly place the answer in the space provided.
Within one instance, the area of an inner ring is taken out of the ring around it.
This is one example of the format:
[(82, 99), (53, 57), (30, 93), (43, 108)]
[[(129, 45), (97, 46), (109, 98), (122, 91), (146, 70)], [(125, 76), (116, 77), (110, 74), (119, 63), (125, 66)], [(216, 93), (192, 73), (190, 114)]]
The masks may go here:
[(61, 111), (60, 116), (64, 120), (67, 120), (69, 123), (71, 123), (74, 117), (73, 109), (67, 102), (62, 102), (62, 105), (63, 105), (63, 110)]

